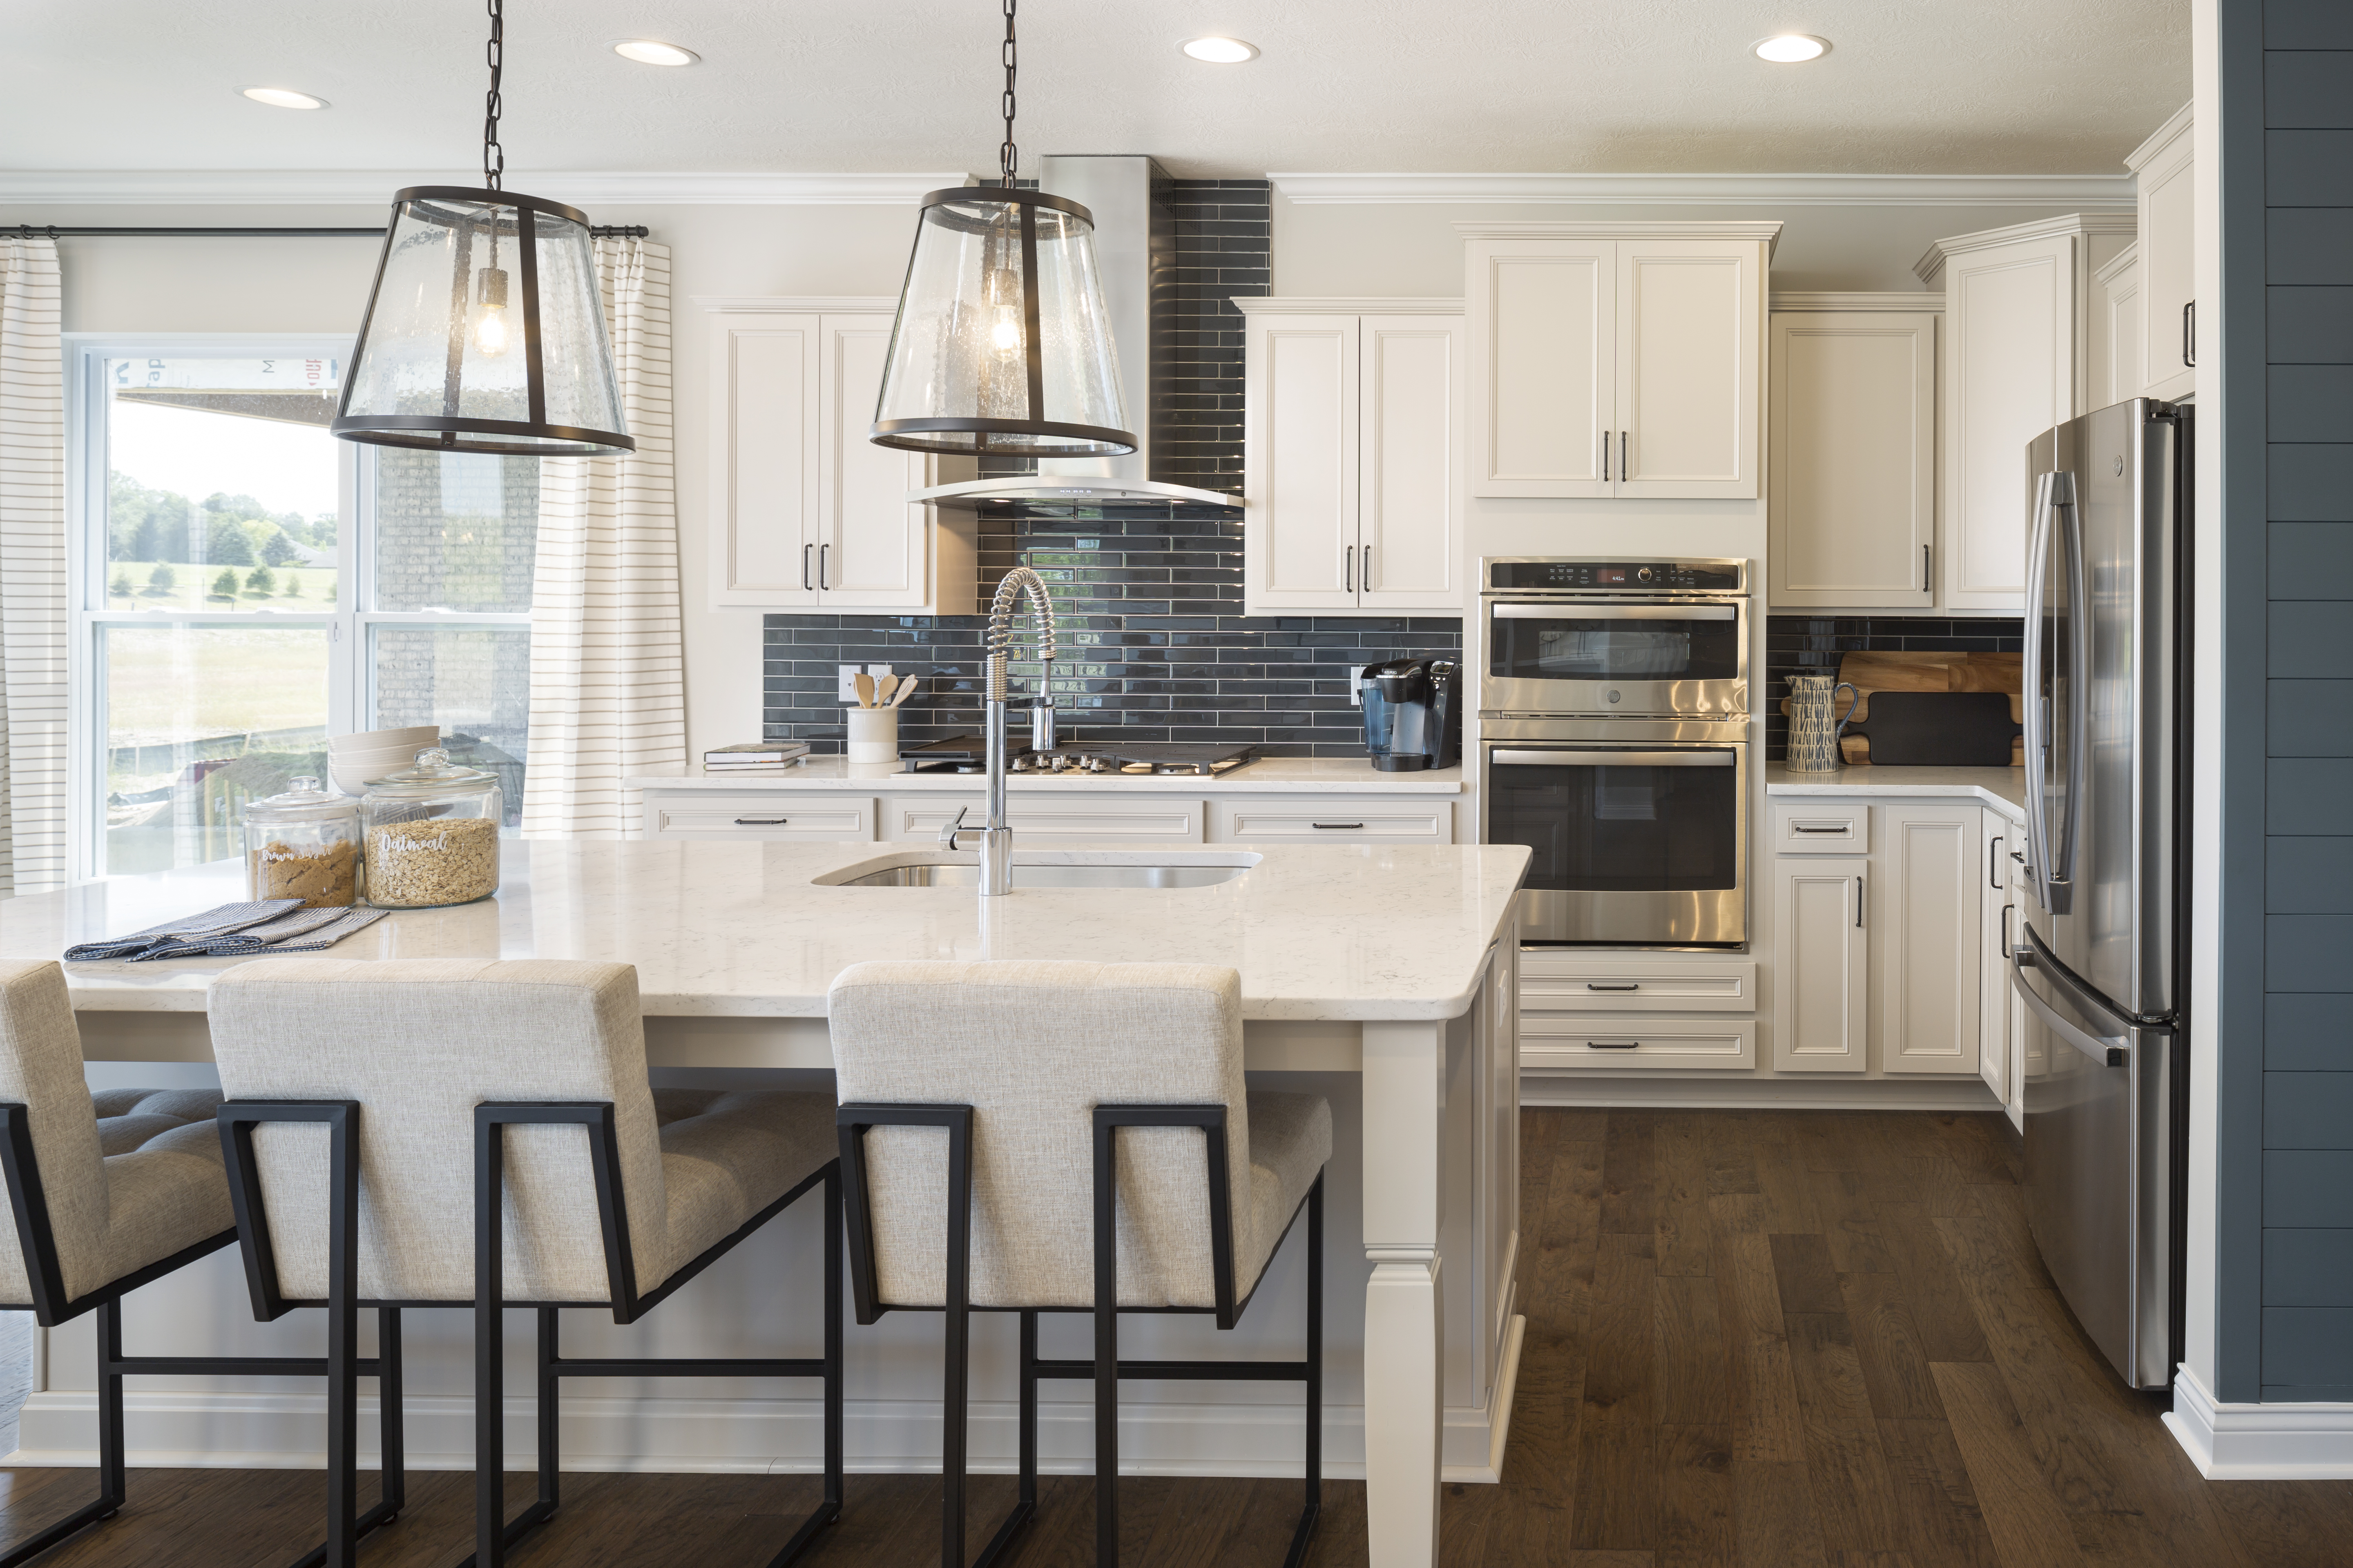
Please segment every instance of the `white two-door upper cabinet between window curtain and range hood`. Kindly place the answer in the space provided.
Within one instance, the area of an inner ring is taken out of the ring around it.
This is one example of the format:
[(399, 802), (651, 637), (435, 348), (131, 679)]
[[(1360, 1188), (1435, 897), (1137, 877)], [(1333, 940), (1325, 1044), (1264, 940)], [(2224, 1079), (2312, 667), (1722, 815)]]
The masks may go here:
[(866, 440), (889, 331), (892, 301), (713, 308), (713, 604), (972, 611), (972, 522), (906, 498), (969, 458)]

